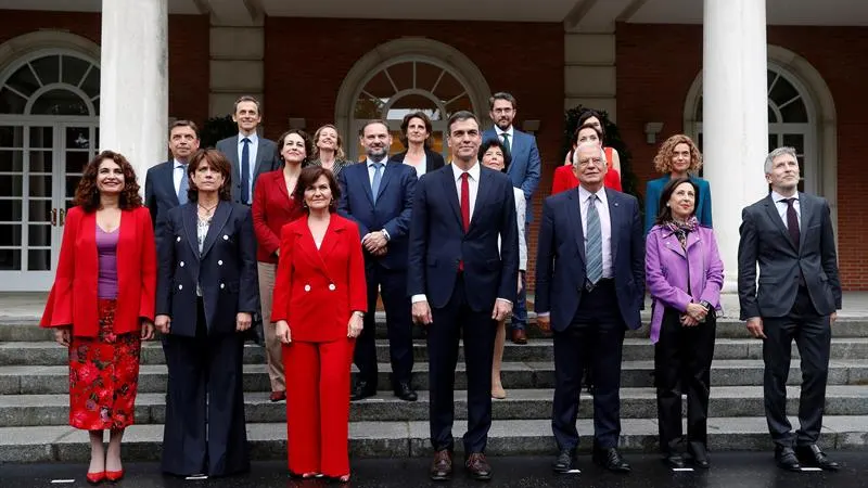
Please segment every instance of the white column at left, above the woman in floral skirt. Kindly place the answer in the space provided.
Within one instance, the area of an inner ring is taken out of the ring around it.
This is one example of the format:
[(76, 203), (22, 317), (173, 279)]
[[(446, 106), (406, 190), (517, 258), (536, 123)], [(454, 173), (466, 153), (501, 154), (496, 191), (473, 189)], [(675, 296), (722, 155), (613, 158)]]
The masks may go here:
[(103, 0), (101, 50), (100, 150), (126, 156), (144, 191), (168, 151), (167, 0)]

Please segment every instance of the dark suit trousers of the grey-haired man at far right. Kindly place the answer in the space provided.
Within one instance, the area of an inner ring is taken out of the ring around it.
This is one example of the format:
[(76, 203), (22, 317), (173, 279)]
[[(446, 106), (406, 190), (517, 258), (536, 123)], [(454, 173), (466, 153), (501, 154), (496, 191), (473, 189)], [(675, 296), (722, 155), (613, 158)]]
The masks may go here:
[[(787, 317), (763, 318), (765, 376), (763, 381), (766, 421), (776, 446), (815, 444), (822, 426), (826, 381), (829, 377), (829, 348), (832, 330), (829, 316), (820, 316), (807, 288), (799, 287)], [(787, 377), (790, 375), (793, 339), (802, 357), (802, 396), (799, 400), (799, 431), (793, 434), (787, 419)]]

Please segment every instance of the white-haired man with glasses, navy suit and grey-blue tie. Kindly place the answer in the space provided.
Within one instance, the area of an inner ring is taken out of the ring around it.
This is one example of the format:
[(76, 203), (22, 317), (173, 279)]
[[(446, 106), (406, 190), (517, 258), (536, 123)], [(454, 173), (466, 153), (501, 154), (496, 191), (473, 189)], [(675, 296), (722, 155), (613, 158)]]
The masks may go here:
[(536, 268), (537, 323), (554, 330), (551, 426), (560, 454), (553, 470), (575, 467), (582, 369), (593, 369), (593, 462), (626, 473), (621, 435), (621, 347), (641, 325), (644, 239), (636, 197), (603, 188), (605, 154), (596, 143), (575, 152), (580, 185), (546, 198)]

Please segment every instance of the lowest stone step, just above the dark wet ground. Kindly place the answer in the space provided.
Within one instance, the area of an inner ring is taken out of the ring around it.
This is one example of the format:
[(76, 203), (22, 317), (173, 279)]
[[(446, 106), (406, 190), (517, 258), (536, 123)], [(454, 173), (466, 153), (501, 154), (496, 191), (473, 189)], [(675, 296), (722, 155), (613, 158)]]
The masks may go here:
[[(796, 419), (791, 419), (797, 425)], [(587, 452), (591, 442), (588, 434), (592, 421), (577, 422), (582, 437), (580, 449)], [(452, 433), (456, 450), (463, 447), (460, 436), (467, 422), (456, 421)], [(413, 422), (350, 422), (349, 455), (361, 458), (417, 458), (432, 454), (429, 423)], [(826, 415), (820, 444), (829, 451), (865, 450), (868, 446), (868, 418)], [(248, 423), (247, 441), (255, 460), (286, 459), (286, 424)], [(656, 452), (656, 419), (624, 419), (618, 441), (626, 452)], [(712, 451), (768, 451), (771, 440), (765, 418), (709, 419), (709, 447)], [(133, 425), (124, 436), (124, 459), (157, 461), (163, 448), (163, 425)], [(550, 420), (495, 421), (488, 436), (488, 455), (554, 454), (557, 447)], [(76, 462), (90, 459), (88, 434), (69, 426), (0, 427), (0, 463)], [(459, 458), (461, 459), (461, 458)], [(629, 461), (629, 454), (627, 455)]]

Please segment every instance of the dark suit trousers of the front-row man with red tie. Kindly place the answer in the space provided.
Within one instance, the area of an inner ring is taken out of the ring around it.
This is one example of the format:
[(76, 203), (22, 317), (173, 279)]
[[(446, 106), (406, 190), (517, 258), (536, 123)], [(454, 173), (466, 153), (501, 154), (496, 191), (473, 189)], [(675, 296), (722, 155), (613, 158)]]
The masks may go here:
[(429, 325), (429, 383), (431, 389), (431, 445), (434, 450), (455, 446), (455, 367), (459, 341), (464, 341), (468, 377), (468, 432), (464, 452), (485, 452), (492, 427), (492, 360), (497, 323), (490, 307), (474, 311), (467, 303), (464, 279), (456, 280), (455, 291), (444, 308), (432, 308), (434, 323)]

